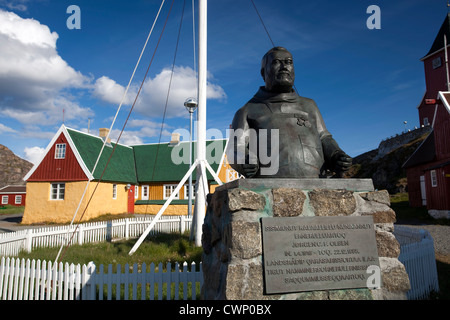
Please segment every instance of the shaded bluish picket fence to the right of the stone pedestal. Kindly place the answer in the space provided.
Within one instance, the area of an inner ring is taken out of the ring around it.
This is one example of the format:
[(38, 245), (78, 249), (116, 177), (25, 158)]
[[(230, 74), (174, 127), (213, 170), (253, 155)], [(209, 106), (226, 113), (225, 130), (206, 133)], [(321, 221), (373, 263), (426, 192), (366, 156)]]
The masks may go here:
[(405, 266), (411, 289), (409, 300), (426, 298), (439, 292), (433, 237), (423, 229), (395, 226), (394, 235), (400, 243), (398, 259)]

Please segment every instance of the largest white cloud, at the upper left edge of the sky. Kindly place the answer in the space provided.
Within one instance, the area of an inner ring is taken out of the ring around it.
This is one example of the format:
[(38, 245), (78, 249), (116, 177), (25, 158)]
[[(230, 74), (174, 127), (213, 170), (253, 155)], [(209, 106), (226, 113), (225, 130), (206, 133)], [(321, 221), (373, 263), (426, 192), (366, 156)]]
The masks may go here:
[[(22, 123), (55, 121), (64, 106), (68, 117), (91, 111), (61, 92), (88, 86), (89, 79), (70, 67), (56, 50), (58, 34), (34, 19), (0, 9), (0, 113)], [(58, 117), (60, 119), (60, 117)]]

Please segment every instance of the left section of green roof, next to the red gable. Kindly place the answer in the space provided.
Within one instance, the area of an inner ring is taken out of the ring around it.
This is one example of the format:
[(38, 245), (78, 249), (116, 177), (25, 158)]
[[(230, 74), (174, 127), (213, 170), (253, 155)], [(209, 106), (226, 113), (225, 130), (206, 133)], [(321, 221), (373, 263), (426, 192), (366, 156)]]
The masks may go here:
[[(86, 133), (75, 131), (67, 128), (78, 153), (83, 159), (84, 164), (92, 172), (95, 162), (103, 146), (103, 140), (100, 137), (92, 136)], [(115, 144), (106, 145), (103, 149), (102, 156), (93, 174), (94, 179), (100, 179), (109, 157), (113, 151)], [(125, 182), (136, 184), (136, 169), (134, 165), (133, 149), (128, 146), (118, 144), (111, 160), (103, 174), (102, 181)]]

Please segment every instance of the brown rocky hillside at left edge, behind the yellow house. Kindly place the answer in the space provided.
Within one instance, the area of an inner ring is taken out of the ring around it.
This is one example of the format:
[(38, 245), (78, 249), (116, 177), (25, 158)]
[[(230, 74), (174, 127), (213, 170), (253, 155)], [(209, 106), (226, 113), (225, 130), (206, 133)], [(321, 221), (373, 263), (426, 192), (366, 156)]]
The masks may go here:
[(0, 144), (0, 188), (7, 185), (24, 185), (22, 178), (32, 167), (31, 162), (16, 156)]

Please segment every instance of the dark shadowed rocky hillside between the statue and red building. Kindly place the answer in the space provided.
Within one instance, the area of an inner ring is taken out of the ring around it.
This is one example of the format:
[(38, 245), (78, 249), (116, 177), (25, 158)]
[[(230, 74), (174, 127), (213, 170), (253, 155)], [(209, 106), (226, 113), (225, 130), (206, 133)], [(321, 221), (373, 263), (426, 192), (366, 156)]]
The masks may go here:
[(346, 177), (371, 178), (374, 187), (389, 193), (406, 192), (406, 171), (402, 165), (430, 133), (430, 128), (420, 128), (380, 143), (375, 150), (353, 159)]

